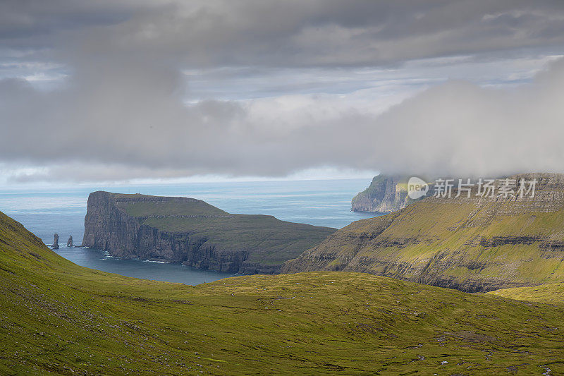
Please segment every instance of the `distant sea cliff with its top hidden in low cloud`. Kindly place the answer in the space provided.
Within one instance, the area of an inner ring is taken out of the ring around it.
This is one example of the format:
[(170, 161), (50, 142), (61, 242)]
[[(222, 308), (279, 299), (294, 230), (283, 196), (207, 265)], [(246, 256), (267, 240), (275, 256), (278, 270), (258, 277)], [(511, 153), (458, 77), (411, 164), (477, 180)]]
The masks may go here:
[(397, 212), (415, 202), (407, 196), (405, 176), (374, 176), (370, 186), (358, 193), (351, 202), (353, 212)]

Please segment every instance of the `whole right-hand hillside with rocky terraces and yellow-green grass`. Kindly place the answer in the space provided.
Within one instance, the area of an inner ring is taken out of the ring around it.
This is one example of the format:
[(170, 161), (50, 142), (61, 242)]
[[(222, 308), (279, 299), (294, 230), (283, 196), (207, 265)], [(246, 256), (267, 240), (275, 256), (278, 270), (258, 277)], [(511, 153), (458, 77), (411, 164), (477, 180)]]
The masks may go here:
[(514, 178), (537, 178), (534, 198), (425, 198), (346, 226), (283, 272), (369, 272), (462, 291), (561, 281), (564, 176)]

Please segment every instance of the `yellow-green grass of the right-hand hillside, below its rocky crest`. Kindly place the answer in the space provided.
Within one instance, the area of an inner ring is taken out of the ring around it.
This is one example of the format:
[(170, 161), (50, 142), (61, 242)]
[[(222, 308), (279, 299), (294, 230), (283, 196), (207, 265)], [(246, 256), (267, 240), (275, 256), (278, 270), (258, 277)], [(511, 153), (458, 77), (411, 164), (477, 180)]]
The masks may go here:
[[(506, 215), (512, 205), (495, 202), (477, 208), (463, 200), (423, 200), (400, 212), (353, 222), (289, 264), (298, 265), (298, 271), (341, 265), (344, 270), (415, 281), (424, 271), (461, 284), (469, 279), (531, 285), (563, 281), (562, 250), (541, 250), (542, 241), (489, 247), (479, 243), (482, 237), (496, 236), (564, 241), (564, 209)], [(314, 265), (308, 253), (336, 257), (331, 264)]]

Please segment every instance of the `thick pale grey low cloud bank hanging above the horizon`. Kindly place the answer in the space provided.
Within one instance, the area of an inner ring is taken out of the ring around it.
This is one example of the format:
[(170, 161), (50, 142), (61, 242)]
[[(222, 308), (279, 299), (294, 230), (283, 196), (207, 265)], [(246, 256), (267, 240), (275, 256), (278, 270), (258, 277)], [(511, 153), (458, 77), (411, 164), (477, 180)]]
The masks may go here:
[[(106, 164), (107, 171), (92, 168), (92, 180), (284, 176), (319, 166), (457, 175), (564, 171), (563, 60), (526, 85), (450, 81), (383, 114), (315, 97), (286, 108), (282, 99), (186, 107), (175, 72), (138, 72), (132, 64), (103, 75), (88, 71), (58, 92), (1, 81), (0, 121), (9, 126), (0, 157)], [(61, 168), (51, 173), (37, 178), (65, 175)], [(87, 179), (88, 169), (80, 176)]]

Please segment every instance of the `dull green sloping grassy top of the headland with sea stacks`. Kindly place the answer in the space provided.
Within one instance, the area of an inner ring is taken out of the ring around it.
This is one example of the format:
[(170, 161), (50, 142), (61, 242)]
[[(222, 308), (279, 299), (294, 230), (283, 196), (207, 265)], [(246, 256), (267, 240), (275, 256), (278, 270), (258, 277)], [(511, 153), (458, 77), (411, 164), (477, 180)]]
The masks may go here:
[[(115, 193), (114, 196), (118, 200), (149, 197)], [(252, 250), (247, 261), (262, 265), (280, 265), (336, 231), (329, 227), (281, 221), (267, 215), (229, 214), (195, 199), (119, 202), (118, 206), (133, 217), (159, 216), (144, 219), (143, 224), (161, 231), (206, 237), (216, 250)]]

